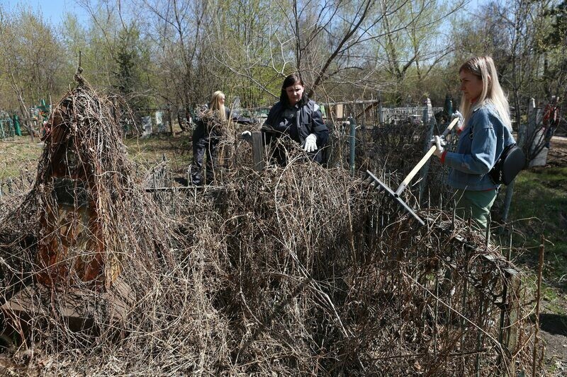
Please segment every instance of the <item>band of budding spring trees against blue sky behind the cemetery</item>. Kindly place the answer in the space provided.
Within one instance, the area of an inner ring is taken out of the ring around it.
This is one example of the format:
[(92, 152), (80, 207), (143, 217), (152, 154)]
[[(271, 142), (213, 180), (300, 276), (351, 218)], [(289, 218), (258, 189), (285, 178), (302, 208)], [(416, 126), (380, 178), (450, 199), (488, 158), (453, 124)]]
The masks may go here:
[[(15, 91), (13, 73), (26, 106), (58, 98), (80, 51), (91, 85), (133, 108), (191, 109), (215, 90), (245, 107), (270, 105), (296, 70), (325, 102), (416, 105), (428, 93), (442, 105), (447, 93), (459, 100), (460, 64), (492, 54), (517, 106), (563, 94), (565, 1), (553, 5), (489, 3), (476, 18), (457, 12), (462, 1), (442, 0), (84, 1), (90, 18), (69, 14), (60, 28), (26, 11), (2, 13), (0, 89)], [(20, 105), (17, 97), (0, 97), (0, 107)]]

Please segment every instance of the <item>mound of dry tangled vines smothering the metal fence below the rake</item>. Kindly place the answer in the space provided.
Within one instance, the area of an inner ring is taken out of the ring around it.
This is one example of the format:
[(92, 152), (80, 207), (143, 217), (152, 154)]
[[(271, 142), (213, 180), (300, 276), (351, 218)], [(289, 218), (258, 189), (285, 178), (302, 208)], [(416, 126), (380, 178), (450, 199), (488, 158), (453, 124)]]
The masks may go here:
[(208, 296), (230, 323), (232, 371), (468, 375), (477, 356), (483, 374), (512, 368), (495, 305), (512, 266), (466, 224), (431, 211), (436, 224), (415, 228), (360, 180), (315, 164), (210, 195), (189, 233), (193, 253), (222, 252)]

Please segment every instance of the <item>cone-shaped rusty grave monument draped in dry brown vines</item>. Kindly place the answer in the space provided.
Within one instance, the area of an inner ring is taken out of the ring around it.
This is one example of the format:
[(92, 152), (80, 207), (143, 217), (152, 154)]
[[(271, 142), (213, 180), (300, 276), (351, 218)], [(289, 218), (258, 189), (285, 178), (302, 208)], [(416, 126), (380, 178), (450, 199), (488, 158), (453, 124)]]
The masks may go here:
[[(83, 292), (77, 311), (91, 313), (96, 332), (110, 340), (153, 325), (152, 296), (160, 294), (174, 266), (171, 224), (133, 180), (110, 110), (87, 84), (64, 95), (51, 118), (35, 185), (4, 216), (6, 298), (23, 285), (41, 283), (29, 294), (31, 318), (23, 325), (8, 320), (26, 345), (42, 344), (48, 354), (96, 341), (89, 332), (75, 334), (63, 320), (68, 287)], [(50, 290), (45, 294), (40, 286)], [(116, 322), (119, 301), (126, 301), (126, 318)]]

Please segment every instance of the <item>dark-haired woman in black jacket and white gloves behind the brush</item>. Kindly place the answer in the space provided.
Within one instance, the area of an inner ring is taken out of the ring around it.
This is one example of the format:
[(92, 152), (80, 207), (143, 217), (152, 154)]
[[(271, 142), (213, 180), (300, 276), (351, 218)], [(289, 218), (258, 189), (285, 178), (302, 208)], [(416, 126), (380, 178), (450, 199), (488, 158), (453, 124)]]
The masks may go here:
[[(270, 110), (262, 127), (266, 143), (282, 136), (296, 141), (315, 162), (322, 162), (322, 147), (327, 143), (329, 130), (322, 120), (321, 110), (315, 101), (303, 93), (305, 86), (298, 74), (283, 80), (279, 102)], [(286, 151), (276, 146), (274, 157), (286, 163)]]

